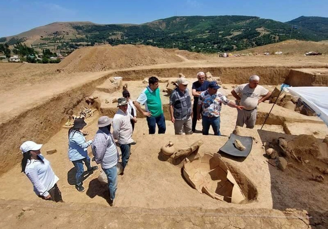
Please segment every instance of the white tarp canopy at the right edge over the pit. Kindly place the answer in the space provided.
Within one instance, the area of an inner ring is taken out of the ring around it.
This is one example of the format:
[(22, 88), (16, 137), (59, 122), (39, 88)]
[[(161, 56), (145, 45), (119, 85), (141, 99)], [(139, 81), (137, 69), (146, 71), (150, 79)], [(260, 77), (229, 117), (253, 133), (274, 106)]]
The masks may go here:
[(300, 97), (328, 126), (328, 87), (287, 87), (286, 89)]

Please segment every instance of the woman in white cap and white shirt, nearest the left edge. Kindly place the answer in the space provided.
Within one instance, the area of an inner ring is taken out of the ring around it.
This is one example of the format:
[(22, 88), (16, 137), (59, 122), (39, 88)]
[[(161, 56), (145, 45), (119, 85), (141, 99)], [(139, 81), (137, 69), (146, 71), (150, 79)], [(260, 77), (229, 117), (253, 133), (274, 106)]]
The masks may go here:
[(22, 172), (30, 179), (36, 195), (54, 202), (63, 202), (57, 186), (59, 178), (54, 174), (50, 162), (40, 152), (42, 144), (26, 141), (20, 146), (23, 154)]

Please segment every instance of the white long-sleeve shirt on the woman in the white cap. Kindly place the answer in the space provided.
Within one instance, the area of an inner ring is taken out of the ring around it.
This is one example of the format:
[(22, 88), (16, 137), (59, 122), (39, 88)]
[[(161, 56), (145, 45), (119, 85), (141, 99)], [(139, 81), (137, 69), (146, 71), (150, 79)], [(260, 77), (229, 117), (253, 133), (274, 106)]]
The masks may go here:
[(33, 191), (38, 196), (48, 196), (49, 190), (59, 181), (50, 166), (50, 162), (39, 154), (43, 160), (28, 160), (25, 167), (25, 174), (33, 185)]

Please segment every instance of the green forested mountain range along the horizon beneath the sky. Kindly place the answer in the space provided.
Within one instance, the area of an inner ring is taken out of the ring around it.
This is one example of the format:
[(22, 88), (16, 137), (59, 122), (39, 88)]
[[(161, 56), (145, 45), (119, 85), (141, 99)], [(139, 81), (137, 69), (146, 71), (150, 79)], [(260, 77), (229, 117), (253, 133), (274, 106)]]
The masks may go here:
[(40, 51), (72, 51), (95, 44), (146, 44), (195, 52), (237, 51), (288, 39), (328, 40), (328, 18), (299, 17), (287, 23), (255, 16), (175, 16), (153, 22), (100, 25), (56, 22), (0, 38), (9, 45), (24, 42)]

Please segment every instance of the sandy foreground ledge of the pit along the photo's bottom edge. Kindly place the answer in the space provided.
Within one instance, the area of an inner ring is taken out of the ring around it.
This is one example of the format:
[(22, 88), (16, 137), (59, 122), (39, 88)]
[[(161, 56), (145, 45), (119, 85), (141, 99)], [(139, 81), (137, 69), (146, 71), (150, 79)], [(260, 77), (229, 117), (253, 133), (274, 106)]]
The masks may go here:
[[(99, 204), (0, 201), (9, 228), (277, 228), (307, 229), (306, 212), (288, 209), (108, 208)], [(250, 215), (251, 214), (251, 215)], [(43, 217), (40, 217), (43, 216)], [(31, 218), (33, 220), (31, 220)], [(10, 223), (8, 223), (10, 222)], [(313, 227), (314, 228), (314, 227)]]

